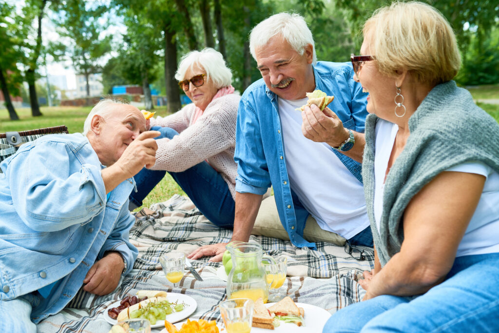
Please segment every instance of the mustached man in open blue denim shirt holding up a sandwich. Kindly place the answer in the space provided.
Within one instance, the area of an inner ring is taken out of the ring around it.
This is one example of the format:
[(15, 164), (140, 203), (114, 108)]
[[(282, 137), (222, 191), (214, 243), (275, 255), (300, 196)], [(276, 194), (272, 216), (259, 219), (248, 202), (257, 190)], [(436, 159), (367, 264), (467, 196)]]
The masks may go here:
[[(303, 238), (311, 214), (322, 229), (372, 247), (359, 163), (367, 94), (354, 81), (351, 64), (316, 62), (312, 33), (298, 14), (258, 23), (250, 50), (262, 79), (246, 89), (238, 112), (232, 240), (249, 240), (261, 196), (272, 185), (293, 245), (315, 247)], [(297, 110), (315, 89), (334, 96), (329, 107)], [(220, 261), (225, 245), (198, 248), (190, 258)]]

